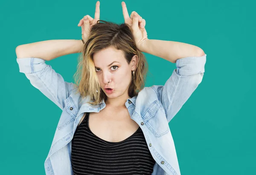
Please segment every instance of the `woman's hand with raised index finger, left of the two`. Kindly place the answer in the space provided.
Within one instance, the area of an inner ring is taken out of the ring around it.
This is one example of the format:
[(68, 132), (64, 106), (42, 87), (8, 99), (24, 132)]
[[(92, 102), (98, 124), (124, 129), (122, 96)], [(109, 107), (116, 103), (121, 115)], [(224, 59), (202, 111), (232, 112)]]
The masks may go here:
[(96, 3), (94, 19), (90, 17), (89, 14), (85, 15), (78, 23), (77, 26), (81, 26), (82, 29), (82, 39), (84, 42), (87, 41), (87, 38), (90, 34), (91, 28), (99, 20), (99, 1)]

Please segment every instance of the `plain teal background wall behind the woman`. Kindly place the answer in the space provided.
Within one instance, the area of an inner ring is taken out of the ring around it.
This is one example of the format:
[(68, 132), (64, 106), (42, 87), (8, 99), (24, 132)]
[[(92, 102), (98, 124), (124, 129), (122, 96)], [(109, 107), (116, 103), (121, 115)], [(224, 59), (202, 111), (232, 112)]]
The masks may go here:
[[(100, 18), (123, 23), (121, 0), (101, 0)], [(41, 40), (81, 39), (77, 24), (94, 17), (96, 0), (0, 2), (0, 174), (44, 175), (61, 109), (19, 72), (15, 48)], [(169, 123), (182, 175), (256, 174), (255, 2), (249, 0), (125, 0), (146, 20), (149, 39), (200, 47), (204, 78)], [(254, 14), (254, 15), (253, 15)], [(74, 82), (77, 57), (47, 62)], [(145, 54), (146, 86), (163, 85), (175, 64)]]

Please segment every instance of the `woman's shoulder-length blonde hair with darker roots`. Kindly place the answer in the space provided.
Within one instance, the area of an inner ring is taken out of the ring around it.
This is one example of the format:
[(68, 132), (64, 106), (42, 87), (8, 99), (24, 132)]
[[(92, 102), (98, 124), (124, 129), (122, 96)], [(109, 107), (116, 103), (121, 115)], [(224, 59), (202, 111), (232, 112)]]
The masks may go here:
[(86, 43), (84, 43), (81, 55), (79, 56), (78, 69), (74, 75), (78, 92), (82, 97), (89, 95), (90, 102), (88, 103), (92, 105), (101, 103), (102, 99), (107, 99), (99, 84), (93, 63), (93, 54), (111, 46), (122, 50), (128, 64), (134, 55), (138, 56), (134, 76), (131, 72), (133, 80), (129, 85), (128, 95), (130, 97), (138, 95), (145, 86), (148, 63), (145, 60), (145, 55), (137, 49), (129, 26), (125, 23), (118, 25), (105, 20), (99, 20), (92, 26), (90, 36)]

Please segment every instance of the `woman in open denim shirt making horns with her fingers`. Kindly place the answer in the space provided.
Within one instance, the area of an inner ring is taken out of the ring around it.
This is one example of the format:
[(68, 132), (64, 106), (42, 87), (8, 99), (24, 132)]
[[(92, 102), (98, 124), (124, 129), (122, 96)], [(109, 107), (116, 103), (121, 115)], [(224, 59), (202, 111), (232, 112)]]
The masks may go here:
[[(99, 21), (98, 1), (94, 19), (86, 15), (78, 24), (83, 40), (16, 49), (20, 72), (63, 110), (47, 175), (180, 175), (168, 123), (201, 83), (206, 54), (186, 43), (148, 39), (145, 20), (135, 11), (129, 17), (124, 2), (122, 9), (124, 24)], [(45, 64), (78, 52), (77, 85)], [(144, 87), (142, 52), (176, 63), (164, 86)]]

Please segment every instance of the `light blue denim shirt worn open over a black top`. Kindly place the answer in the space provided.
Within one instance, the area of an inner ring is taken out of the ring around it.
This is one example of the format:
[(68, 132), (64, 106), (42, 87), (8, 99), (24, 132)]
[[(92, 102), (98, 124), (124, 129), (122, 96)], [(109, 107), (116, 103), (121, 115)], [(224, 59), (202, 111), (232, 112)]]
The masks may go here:
[[(17, 58), (20, 72), (32, 86), (62, 109), (49, 154), (44, 162), (46, 175), (73, 175), (71, 141), (84, 112), (99, 112), (106, 104), (90, 106), (74, 83), (64, 81), (45, 60), (36, 57)], [(148, 149), (156, 161), (152, 175), (180, 175), (175, 144), (168, 123), (201, 83), (206, 54), (184, 57), (164, 86), (144, 87), (137, 96), (125, 102), (130, 117), (142, 129)]]

